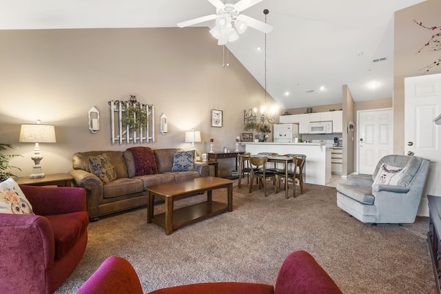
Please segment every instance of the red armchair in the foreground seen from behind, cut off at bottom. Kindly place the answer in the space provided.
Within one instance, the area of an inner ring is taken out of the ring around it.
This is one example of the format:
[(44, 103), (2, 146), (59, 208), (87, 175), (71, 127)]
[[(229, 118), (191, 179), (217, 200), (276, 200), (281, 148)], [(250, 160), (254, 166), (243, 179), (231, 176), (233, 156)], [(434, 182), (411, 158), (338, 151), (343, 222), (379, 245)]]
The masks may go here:
[[(143, 294), (138, 275), (124, 258), (107, 258), (76, 294), (104, 293)], [(163, 288), (150, 293), (342, 294), (342, 291), (309, 253), (294, 251), (283, 262), (276, 286), (246, 282), (214, 282)]]

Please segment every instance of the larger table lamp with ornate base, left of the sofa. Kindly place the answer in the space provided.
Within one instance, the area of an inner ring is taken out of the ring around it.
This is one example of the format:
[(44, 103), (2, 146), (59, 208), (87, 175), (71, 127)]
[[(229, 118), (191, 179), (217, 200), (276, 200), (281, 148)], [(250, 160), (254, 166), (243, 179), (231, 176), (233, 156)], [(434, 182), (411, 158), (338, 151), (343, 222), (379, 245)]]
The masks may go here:
[(44, 173), (41, 171), (40, 161), (43, 156), (40, 154), (39, 143), (56, 143), (55, 128), (53, 125), (40, 125), (40, 120), (37, 120), (37, 125), (21, 125), (20, 129), (20, 143), (35, 143), (34, 155), (31, 157), (34, 160), (34, 169), (29, 178), (44, 178)]

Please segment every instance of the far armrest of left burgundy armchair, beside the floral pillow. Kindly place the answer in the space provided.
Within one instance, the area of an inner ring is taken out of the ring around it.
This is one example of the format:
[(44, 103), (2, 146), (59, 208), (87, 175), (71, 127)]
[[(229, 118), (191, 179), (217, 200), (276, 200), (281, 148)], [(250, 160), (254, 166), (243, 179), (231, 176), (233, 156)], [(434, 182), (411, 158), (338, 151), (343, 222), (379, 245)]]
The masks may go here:
[(21, 191), (40, 216), (86, 211), (85, 189), (20, 185)]

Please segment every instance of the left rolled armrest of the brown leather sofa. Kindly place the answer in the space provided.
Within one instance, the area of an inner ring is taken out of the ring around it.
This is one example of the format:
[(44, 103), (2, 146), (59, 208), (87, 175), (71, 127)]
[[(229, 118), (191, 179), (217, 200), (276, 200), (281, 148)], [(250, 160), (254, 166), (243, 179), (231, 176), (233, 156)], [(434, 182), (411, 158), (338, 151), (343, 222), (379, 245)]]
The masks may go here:
[(83, 169), (70, 169), (70, 176), (74, 178), (74, 184), (86, 190), (86, 205), (91, 220), (98, 220), (98, 206), (103, 198), (103, 182), (88, 171)]

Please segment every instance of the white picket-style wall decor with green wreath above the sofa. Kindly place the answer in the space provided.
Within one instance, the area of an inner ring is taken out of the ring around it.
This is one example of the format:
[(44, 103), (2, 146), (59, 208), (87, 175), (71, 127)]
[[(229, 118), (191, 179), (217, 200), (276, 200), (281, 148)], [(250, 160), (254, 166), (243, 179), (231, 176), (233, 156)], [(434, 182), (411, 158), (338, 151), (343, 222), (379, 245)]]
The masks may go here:
[(133, 95), (130, 101), (109, 101), (109, 105), (112, 144), (154, 143), (154, 105), (139, 103)]

